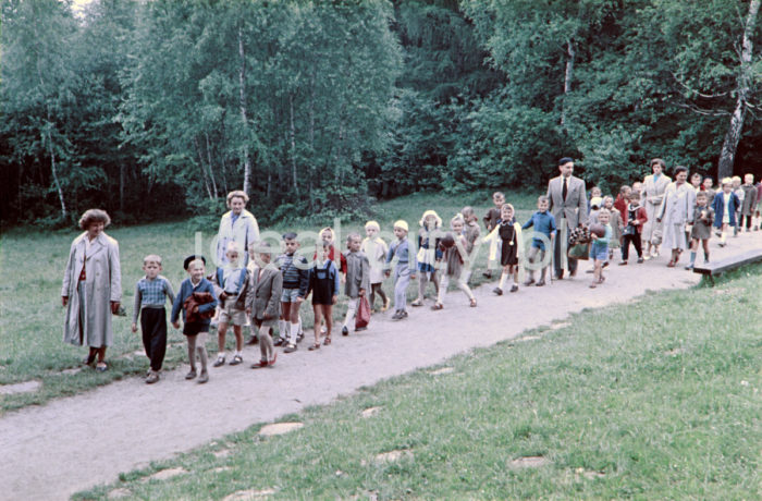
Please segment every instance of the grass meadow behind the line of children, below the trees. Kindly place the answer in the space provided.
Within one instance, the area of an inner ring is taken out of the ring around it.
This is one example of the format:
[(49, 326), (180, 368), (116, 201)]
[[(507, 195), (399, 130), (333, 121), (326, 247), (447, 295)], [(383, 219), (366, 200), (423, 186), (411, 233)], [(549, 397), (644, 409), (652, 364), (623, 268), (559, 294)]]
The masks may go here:
[[(458, 212), (465, 205), (472, 205), (477, 213), (483, 215), (490, 204), (490, 193), (475, 193), (462, 197), (438, 194), (416, 194), (397, 198), (376, 206), (373, 217), (379, 220), (382, 229), (391, 230), (397, 219), (405, 219), (410, 224), (411, 234), (418, 228), (423, 210), (435, 209), (446, 221)], [(533, 206), (532, 195), (507, 193), (507, 198), (518, 210), (518, 219), (529, 218)], [(256, 212), (256, 207), (254, 208)], [(343, 234), (348, 231), (362, 231), (365, 221), (342, 221)], [(332, 221), (325, 221), (325, 225)], [(282, 233), (285, 230), (318, 231), (319, 228), (307, 225), (274, 227)], [(41, 388), (30, 393), (0, 395), (0, 413), (21, 408), (27, 405), (39, 405), (50, 399), (67, 396), (82, 391), (107, 384), (124, 377), (142, 375), (148, 364), (147, 358), (135, 352), (143, 344), (138, 333), (130, 330), (134, 286), (143, 276), (143, 257), (158, 253), (164, 261), (162, 273), (179, 289), (180, 282), (186, 277), (182, 269), (183, 258), (195, 248), (195, 227), (190, 222), (172, 222), (146, 224), (139, 227), (120, 228), (114, 222), (107, 232), (120, 242), (120, 261), (122, 265), (122, 303), (127, 317), (114, 317), (114, 344), (107, 353), (110, 369), (97, 374), (86, 369), (77, 374), (62, 372), (79, 367), (86, 354), (85, 349), (77, 349), (61, 342), (63, 326), (63, 308), (61, 307), (61, 279), (69, 248), (76, 234), (67, 232), (38, 232), (28, 229), (15, 229), (2, 234), (0, 240), (0, 269), (7, 280), (0, 284), (0, 384), (12, 384), (23, 381), (40, 381)], [(208, 255), (208, 246), (217, 231), (217, 225), (202, 229), (202, 249)], [(261, 230), (266, 230), (262, 228)], [(487, 264), (487, 252), (481, 252), (477, 267)], [(211, 270), (208, 270), (211, 271)], [(478, 285), (483, 279), (475, 273), (471, 283)], [(392, 290), (390, 279), (384, 289)], [(453, 285), (454, 286), (454, 285)], [(416, 286), (408, 289), (408, 294), (415, 294)], [(168, 310), (169, 310), (168, 306)], [(335, 318), (343, 317), (346, 305), (340, 302), (334, 308)], [(168, 311), (169, 314), (169, 311)], [(306, 327), (312, 325), (312, 313), (309, 306), (302, 308)], [(170, 349), (167, 353), (167, 368), (173, 368), (186, 358), (183, 335), (170, 327)], [(229, 346), (233, 345), (233, 334), (229, 334)], [(216, 353), (216, 338), (209, 342), (210, 352)]]

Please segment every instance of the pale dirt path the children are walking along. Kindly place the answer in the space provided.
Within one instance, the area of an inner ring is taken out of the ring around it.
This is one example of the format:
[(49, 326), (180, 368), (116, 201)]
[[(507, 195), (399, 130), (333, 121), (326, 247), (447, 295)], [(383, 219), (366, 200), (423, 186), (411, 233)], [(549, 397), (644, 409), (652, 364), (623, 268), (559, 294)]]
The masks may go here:
[[(712, 257), (761, 246), (762, 232), (743, 234), (724, 249), (713, 244)], [(595, 290), (588, 289), (590, 276), (583, 271), (590, 265), (582, 262), (577, 278), (542, 289), (521, 288), (499, 297), (490, 292), (492, 285), (483, 285), (476, 290), (477, 309), (457, 291), (447, 295), (442, 311), (428, 305), (409, 308), (410, 318), (401, 322), (379, 315), (368, 331), (334, 337), (333, 345), (319, 352), (308, 352), (306, 340), (296, 353), (279, 353), (272, 370), (248, 368), (259, 356), (255, 346), (246, 350), (244, 365), (211, 368), (206, 386), (185, 381), (187, 367), (181, 367), (152, 387), (134, 378), (11, 413), (0, 418), (0, 499), (67, 499), (149, 461), (306, 405), (330, 403), (361, 386), (515, 338), (570, 313), (699, 281), (683, 268), (665, 268), (665, 257), (643, 265), (631, 259), (627, 267), (617, 261), (615, 257), (606, 283)]]

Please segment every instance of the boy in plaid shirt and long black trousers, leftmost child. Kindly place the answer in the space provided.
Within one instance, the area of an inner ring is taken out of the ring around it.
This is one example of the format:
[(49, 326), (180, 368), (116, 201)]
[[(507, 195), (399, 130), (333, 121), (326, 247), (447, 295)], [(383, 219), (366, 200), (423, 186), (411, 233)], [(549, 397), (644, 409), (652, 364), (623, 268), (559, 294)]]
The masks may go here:
[(150, 361), (146, 383), (159, 380), (161, 365), (167, 353), (167, 310), (164, 303), (169, 297), (174, 303), (172, 284), (161, 273), (161, 257), (150, 254), (143, 258), (143, 271), (146, 276), (135, 284), (135, 307), (133, 308), (133, 332), (137, 332), (137, 317), (140, 316), (143, 347)]

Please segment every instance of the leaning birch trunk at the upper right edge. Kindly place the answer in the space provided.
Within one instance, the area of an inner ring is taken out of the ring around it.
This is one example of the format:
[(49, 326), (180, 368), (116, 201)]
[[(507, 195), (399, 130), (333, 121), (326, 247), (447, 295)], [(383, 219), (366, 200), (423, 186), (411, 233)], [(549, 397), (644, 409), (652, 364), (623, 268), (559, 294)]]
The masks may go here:
[(738, 83), (736, 86), (736, 109), (730, 115), (730, 124), (725, 134), (725, 142), (720, 152), (720, 161), (717, 162), (717, 178), (730, 178), (733, 175), (733, 164), (736, 159), (736, 150), (738, 142), (743, 132), (743, 119), (746, 119), (746, 107), (749, 100), (749, 89), (751, 87), (751, 77), (753, 69), (751, 68), (751, 59), (753, 53), (753, 44), (751, 36), (754, 33), (757, 24), (757, 14), (760, 11), (761, 0), (751, 0), (749, 3), (749, 14), (746, 17), (746, 26), (743, 27), (743, 39), (741, 45), (741, 68), (738, 74)]

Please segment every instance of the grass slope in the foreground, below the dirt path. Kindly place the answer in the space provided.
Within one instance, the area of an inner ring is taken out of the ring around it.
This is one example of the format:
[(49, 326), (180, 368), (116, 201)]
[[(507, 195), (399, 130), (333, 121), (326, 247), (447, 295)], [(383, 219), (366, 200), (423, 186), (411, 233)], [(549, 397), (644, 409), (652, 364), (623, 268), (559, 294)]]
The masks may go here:
[[(762, 267), (715, 288), (586, 310), (538, 340), (500, 343), (176, 460), (75, 499), (759, 499)], [(726, 301), (717, 301), (720, 297)], [(369, 418), (360, 413), (372, 406)], [(226, 456), (213, 453), (228, 450)], [(380, 453), (404, 451), (400, 461)], [(514, 461), (542, 456), (541, 467)], [(189, 474), (148, 479), (163, 468)], [(147, 480), (147, 481), (146, 481)]]

